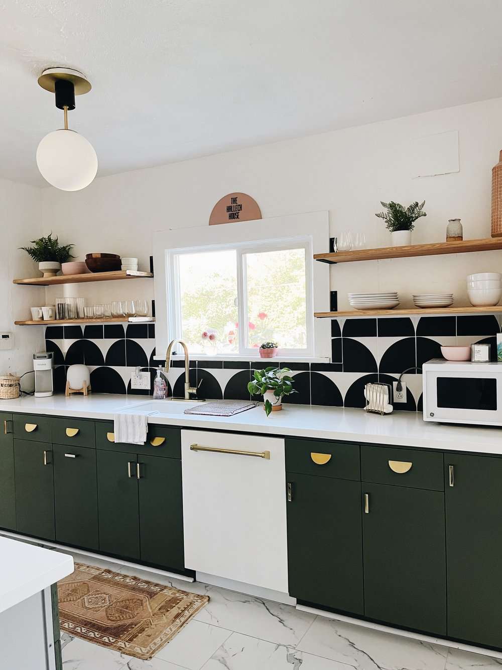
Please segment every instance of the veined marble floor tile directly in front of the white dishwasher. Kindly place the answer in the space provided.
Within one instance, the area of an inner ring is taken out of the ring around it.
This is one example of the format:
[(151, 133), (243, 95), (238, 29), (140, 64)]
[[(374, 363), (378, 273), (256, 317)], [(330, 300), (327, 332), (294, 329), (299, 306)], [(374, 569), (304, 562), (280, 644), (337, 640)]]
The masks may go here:
[(260, 600), (216, 586), (207, 587), (205, 593), (210, 596), (210, 602), (195, 615), (198, 621), (278, 645), (295, 647), (315, 618), (313, 614), (300, 612), (290, 605)]

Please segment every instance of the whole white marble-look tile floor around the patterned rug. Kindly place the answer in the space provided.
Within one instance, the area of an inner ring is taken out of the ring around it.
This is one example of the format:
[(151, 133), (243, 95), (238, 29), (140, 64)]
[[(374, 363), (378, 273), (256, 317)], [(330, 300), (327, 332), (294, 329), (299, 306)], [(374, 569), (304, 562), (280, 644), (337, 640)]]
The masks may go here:
[(210, 602), (151, 661), (64, 633), (64, 670), (502, 670), (502, 659), (361, 628), (76, 553), (74, 559), (207, 593)]

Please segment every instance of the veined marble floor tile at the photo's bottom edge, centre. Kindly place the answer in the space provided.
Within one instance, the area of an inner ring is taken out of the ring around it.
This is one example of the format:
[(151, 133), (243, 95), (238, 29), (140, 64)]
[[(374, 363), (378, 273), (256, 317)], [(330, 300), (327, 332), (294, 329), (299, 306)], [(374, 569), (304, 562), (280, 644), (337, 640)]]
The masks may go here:
[(234, 633), (203, 670), (351, 670), (329, 659), (274, 645), (240, 633)]

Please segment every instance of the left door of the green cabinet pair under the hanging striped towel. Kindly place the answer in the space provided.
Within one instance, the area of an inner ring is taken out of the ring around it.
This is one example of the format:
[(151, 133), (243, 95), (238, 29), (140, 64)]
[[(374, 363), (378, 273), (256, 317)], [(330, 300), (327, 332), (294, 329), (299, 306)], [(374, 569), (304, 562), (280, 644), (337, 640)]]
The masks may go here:
[(136, 456), (97, 450), (99, 548), (139, 559)]

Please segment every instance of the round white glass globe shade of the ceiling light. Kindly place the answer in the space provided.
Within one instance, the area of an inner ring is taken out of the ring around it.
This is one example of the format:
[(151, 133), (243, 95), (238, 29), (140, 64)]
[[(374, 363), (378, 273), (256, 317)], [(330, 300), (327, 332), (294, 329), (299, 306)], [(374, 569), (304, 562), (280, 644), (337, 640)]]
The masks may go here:
[(41, 176), (62, 191), (80, 191), (98, 172), (92, 144), (74, 130), (60, 129), (44, 137), (37, 148)]

